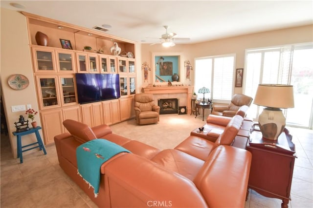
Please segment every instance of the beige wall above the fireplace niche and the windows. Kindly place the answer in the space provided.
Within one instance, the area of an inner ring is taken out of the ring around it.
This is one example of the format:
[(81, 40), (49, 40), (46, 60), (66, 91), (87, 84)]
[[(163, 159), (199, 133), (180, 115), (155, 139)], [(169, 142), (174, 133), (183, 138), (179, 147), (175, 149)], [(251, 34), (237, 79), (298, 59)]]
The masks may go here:
[[(192, 45), (177, 45), (172, 48), (163, 48), (160, 44), (142, 45), (142, 61), (150, 61), (153, 52), (179, 52), (184, 60), (190, 60), (194, 66), (196, 57), (209, 57), (225, 54), (236, 54), (236, 69), (244, 68), (245, 50), (293, 43), (313, 41), (313, 25), (288, 28), (283, 30), (268, 31), (233, 38), (224, 38)], [(191, 84), (194, 84), (194, 69), (191, 74)], [(183, 72), (185, 72), (183, 70)], [(234, 73), (235, 74), (235, 73)], [(234, 93), (242, 93), (242, 88), (235, 88)]]

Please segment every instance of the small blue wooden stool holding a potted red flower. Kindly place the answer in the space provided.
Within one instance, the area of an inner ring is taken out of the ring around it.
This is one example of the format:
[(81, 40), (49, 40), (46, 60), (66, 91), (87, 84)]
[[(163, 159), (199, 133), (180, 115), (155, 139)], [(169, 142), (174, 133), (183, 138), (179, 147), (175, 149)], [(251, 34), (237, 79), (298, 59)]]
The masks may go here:
[[(38, 132), (38, 130), (40, 130), (40, 129), (41, 129), (41, 127), (37, 126), (36, 128), (31, 128), (31, 129), (29, 129), (29, 130), (27, 130), (25, 132), (13, 132), (13, 135), (17, 136), (18, 158), (20, 157), (20, 162), (21, 163), (23, 163), (23, 155), (22, 155), (23, 151), (29, 151), (29, 150), (32, 150), (32, 149), (35, 149), (35, 148), (39, 148), (40, 150), (43, 150), (45, 154), (47, 154), (47, 152), (45, 151), (44, 143), (41, 140), (40, 134)], [(22, 136), (30, 134), (30, 133), (35, 133), (36, 134), (37, 142), (34, 142), (34, 143), (31, 143), (31, 144), (22, 146)], [(31, 148), (28, 148), (26, 150), (22, 150), (25, 147), (29, 147), (29, 146), (32, 146), (32, 145), (35, 145), (35, 144), (38, 144), (38, 146), (31, 147)]]

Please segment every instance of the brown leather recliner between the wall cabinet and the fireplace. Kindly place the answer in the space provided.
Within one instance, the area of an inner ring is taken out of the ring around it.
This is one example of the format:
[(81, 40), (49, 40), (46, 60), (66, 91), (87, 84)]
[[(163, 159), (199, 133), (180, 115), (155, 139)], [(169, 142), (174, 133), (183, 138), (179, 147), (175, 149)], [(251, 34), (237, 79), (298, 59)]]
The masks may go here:
[(154, 124), (159, 121), (160, 107), (155, 104), (153, 94), (135, 94), (134, 111), (137, 124)]

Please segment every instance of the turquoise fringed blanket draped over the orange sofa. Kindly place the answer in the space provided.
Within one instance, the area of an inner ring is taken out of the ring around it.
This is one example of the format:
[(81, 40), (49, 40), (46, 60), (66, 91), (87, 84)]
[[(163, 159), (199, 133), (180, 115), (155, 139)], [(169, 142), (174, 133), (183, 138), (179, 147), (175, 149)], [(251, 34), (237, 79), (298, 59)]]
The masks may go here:
[(101, 165), (120, 152), (130, 151), (106, 139), (93, 139), (77, 147), (77, 174), (94, 189), (94, 197), (99, 192)]

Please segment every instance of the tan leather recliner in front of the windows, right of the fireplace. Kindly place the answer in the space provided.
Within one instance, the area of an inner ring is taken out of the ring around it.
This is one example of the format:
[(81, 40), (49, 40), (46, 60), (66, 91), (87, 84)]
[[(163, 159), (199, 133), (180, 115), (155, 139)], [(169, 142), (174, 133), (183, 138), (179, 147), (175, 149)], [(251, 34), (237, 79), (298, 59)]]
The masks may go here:
[(244, 94), (235, 94), (231, 98), (231, 102), (228, 106), (213, 105), (213, 115), (223, 115), (227, 117), (233, 117), (236, 115), (239, 108), (243, 105), (250, 106), (253, 98)]

